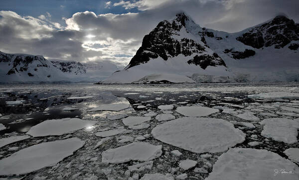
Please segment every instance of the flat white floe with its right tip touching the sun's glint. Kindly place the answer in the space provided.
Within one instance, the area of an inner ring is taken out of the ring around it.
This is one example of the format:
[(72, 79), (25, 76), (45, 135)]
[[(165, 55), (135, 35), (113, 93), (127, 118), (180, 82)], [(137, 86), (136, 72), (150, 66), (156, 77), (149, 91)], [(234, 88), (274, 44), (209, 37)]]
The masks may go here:
[(32, 126), (26, 133), (33, 137), (56, 135), (71, 133), (96, 124), (97, 121), (82, 120), (79, 118), (63, 118), (45, 120), (35, 126)]

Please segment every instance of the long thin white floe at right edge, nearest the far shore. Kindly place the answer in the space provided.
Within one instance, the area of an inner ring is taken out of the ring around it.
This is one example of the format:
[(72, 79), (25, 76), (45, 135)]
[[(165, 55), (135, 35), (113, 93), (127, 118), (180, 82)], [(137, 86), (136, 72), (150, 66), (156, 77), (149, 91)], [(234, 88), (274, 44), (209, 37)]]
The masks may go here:
[(262, 92), (259, 94), (250, 94), (249, 98), (295, 98), (299, 99), (297, 92)]

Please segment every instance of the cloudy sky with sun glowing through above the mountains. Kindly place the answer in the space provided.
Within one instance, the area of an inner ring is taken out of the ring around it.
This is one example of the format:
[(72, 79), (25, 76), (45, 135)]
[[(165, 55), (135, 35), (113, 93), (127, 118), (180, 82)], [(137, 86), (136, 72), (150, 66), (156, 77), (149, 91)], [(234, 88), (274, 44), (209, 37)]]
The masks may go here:
[(0, 0), (0, 51), (80, 62), (129, 63), (143, 37), (184, 11), (201, 27), (238, 32), (299, 0)]

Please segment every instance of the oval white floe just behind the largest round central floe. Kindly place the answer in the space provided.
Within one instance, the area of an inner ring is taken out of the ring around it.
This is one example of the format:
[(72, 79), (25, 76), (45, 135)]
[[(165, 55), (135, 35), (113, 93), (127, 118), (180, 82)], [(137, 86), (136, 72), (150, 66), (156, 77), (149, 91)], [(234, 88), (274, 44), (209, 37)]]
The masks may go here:
[(203, 106), (180, 106), (177, 107), (175, 111), (184, 116), (191, 116), (191, 117), (208, 116), (210, 114), (219, 112), (218, 109), (203, 107)]

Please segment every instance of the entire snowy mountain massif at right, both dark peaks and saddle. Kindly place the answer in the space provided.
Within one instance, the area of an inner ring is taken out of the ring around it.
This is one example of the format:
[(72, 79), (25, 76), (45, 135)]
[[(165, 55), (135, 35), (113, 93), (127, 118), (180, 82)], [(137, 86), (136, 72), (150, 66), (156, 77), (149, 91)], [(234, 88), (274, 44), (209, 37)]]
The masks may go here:
[(298, 49), (299, 24), (286, 16), (227, 33), (179, 13), (159, 22), (129, 65), (100, 83), (298, 81)]

